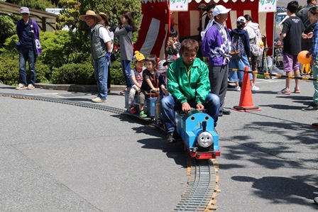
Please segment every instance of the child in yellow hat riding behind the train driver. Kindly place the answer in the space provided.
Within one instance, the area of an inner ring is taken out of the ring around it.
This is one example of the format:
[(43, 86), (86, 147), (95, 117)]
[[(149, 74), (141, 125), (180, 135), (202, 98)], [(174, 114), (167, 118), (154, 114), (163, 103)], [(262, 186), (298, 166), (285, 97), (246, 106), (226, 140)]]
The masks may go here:
[(131, 80), (133, 81), (133, 86), (129, 91), (129, 110), (131, 113), (136, 113), (136, 109), (133, 107), (133, 100), (135, 99), (135, 94), (141, 91), (141, 84), (143, 83), (143, 70), (146, 69), (145, 65), (145, 56), (141, 52), (135, 51), (133, 55), (133, 64), (135, 67), (131, 69)]

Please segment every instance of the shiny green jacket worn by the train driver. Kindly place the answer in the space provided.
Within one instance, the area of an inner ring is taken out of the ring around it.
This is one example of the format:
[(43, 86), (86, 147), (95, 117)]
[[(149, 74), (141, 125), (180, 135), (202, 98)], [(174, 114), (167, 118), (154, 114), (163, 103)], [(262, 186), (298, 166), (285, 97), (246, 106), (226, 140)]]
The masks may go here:
[(199, 58), (196, 58), (190, 69), (190, 77), (182, 57), (170, 64), (167, 74), (167, 88), (169, 93), (183, 104), (190, 99), (205, 104), (207, 94), (211, 91), (209, 69)]

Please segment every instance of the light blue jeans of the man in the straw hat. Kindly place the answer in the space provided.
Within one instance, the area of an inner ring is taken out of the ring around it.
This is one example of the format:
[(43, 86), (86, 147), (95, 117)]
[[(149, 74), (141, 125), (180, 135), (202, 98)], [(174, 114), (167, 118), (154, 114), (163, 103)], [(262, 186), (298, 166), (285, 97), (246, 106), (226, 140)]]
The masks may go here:
[(97, 90), (100, 99), (107, 99), (108, 62), (106, 57), (94, 61), (94, 77), (97, 82)]

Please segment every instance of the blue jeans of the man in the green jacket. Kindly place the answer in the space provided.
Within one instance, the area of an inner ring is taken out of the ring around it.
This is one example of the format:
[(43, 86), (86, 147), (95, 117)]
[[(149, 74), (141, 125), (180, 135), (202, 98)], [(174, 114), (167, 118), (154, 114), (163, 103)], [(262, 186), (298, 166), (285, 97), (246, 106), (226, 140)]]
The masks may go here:
[[(195, 99), (187, 101), (192, 108), (195, 108), (197, 104)], [(207, 110), (209, 116), (214, 119), (214, 126), (219, 118), (220, 99), (219, 96), (209, 93), (207, 95), (204, 108)], [(179, 101), (176, 101), (172, 96), (165, 96), (161, 99), (161, 113), (163, 115), (163, 123), (165, 123), (165, 131), (167, 133), (175, 130), (175, 111), (181, 111), (182, 105)]]

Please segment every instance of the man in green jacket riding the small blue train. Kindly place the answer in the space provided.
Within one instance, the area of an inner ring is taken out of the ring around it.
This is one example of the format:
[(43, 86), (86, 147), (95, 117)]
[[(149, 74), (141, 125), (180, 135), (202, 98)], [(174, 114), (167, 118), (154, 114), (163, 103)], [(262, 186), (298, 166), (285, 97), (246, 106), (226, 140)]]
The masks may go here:
[(181, 57), (169, 66), (167, 88), (171, 96), (161, 100), (161, 112), (168, 143), (175, 142), (175, 111), (187, 113), (192, 108), (205, 109), (214, 119), (219, 116), (219, 96), (210, 93), (209, 69), (197, 58), (199, 44), (196, 40), (186, 39), (181, 43)]

